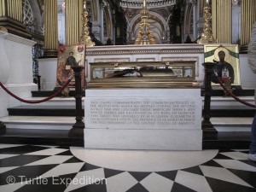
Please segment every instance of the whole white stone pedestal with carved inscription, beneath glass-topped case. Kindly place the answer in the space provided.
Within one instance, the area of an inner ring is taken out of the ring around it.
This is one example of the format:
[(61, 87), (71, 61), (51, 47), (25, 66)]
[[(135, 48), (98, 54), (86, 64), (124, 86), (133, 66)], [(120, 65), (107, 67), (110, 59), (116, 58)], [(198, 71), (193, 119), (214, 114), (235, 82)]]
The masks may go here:
[(86, 90), (84, 147), (201, 150), (200, 89)]

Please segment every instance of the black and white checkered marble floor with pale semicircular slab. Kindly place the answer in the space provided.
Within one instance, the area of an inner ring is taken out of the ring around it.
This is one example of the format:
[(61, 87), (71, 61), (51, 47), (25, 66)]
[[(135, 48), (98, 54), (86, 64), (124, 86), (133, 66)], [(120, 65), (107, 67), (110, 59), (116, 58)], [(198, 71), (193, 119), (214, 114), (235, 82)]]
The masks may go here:
[(256, 162), (247, 160), (247, 153), (0, 144), (0, 191), (256, 191)]

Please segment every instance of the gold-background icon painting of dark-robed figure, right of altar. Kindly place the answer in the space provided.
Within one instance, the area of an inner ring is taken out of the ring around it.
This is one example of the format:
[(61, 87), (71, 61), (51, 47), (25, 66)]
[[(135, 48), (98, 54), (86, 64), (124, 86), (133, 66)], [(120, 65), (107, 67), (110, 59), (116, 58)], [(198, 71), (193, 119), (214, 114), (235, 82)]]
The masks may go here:
[(206, 44), (204, 51), (205, 62), (216, 63), (214, 70), (220, 79), (229, 78), (231, 85), (241, 85), (237, 44)]

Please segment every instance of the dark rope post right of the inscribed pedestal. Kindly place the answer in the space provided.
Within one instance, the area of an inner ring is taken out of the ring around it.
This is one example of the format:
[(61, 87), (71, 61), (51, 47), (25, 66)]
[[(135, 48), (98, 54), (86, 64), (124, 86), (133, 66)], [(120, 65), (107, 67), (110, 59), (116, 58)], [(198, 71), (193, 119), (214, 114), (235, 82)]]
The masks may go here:
[(216, 138), (218, 131), (212, 125), (211, 119), (211, 96), (212, 96), (212, 85), (211, 76), (215, 63), (205, 62), (202, 64), (205, 67), (205, 101), (204, 101), (204, 113), (203, 120), (201, 122), (201, 129), (203, 131), (203, 138)]

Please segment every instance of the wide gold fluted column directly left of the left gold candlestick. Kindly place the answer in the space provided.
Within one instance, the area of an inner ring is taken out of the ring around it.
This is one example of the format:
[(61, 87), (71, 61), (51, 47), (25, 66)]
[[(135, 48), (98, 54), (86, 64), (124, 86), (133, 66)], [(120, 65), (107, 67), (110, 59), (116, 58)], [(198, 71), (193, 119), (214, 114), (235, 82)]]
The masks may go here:
[(79, 44), (82, 34), (83, 0), (65, 0), (66, 44)]

